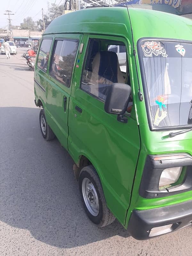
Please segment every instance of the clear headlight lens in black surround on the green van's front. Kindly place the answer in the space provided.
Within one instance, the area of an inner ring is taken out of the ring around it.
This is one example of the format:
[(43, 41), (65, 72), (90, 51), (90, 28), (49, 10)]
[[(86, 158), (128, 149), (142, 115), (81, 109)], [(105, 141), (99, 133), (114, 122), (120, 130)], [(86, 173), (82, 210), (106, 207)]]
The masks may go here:
[(182, 167), (164, 169), (159, 180), (159, 187), (171, 185), (179, 180)]

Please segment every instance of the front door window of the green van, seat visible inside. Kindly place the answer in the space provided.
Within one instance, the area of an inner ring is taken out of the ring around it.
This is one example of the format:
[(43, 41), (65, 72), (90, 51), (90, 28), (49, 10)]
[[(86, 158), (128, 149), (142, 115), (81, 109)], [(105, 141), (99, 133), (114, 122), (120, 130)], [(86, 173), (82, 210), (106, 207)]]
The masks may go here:
[[(119, 45), (112, 44), (114, 41), (100, 39), (98, 40), (100, 48), (95, 52), (91, 40), (84, 66), (81, 89), (105, 101), (108, 86), (113, 83), (125, 84), (127, 82), (126, 47), (124, 52), (125, 72), (122, 72), (117, 53), (110, 51), (110, 49), (117, 49)], [(94, 58), (92, 59), (91, 56), (93, 55)]]

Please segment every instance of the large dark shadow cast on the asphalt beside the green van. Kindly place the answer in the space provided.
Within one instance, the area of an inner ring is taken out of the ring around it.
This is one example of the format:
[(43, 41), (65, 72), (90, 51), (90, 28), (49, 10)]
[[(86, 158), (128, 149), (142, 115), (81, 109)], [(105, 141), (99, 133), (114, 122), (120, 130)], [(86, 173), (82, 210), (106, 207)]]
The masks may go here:
[(74, 162), (57, 139), (43, 139), (38, 108), (0, 108), (0, 116), (0, 221), (60, 248), (129, 236), (118, 221), (97, 228), (87, 218)]

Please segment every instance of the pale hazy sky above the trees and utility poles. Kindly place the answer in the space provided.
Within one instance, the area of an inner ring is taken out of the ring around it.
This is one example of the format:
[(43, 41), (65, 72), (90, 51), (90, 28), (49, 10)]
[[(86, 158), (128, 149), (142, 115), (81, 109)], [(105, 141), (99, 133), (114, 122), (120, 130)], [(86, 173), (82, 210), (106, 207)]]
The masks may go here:
[[(47, 12), (47, 4), (54, 3), (55, 0), (0, 0), (0, 28), (8, 25), (8, 15), (4, 15), (5, 10), (10, 10), (15, 15), (11, 15), (12, 25), (20, 25), (23, 19), (30, 16), (33, 20), (42, 18), (42, 8)], [(56, 0), (55, 6), (60, 3)], [(60, 4), (62, 4), (61, 1)]]

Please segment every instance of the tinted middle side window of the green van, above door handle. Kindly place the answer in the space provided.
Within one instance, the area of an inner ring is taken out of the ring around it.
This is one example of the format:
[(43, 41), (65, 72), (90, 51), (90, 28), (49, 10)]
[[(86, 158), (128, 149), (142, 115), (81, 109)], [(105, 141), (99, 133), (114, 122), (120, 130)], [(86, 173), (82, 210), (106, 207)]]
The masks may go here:
[(55, 40), (50, 65), (50, 75), (70, 87), (78, 40)]

